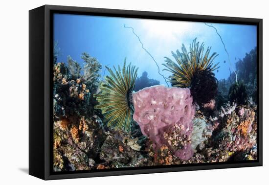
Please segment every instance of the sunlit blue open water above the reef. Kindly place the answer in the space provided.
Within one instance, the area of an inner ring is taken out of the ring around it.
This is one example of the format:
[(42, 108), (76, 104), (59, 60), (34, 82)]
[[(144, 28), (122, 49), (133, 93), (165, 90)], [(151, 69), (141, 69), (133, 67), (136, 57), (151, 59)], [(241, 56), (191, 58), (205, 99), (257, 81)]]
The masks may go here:
[(212, 46), (211, 53), (219, 54), (215, 59), (215, 63), (220, 62), (219, 71), (215, 71), (217, 79), (227, 78), (229, 67), (235, 69), (234, 63), (257, 46), (254, 25), (209, 23), (221, 35), (230, 55), (230, 64), (220, 37), (214, 28), (204, 23), (55, 14), (54, 41), (58, 41), (61, 48), (58, 62), (66, 62), (70, 55), (83, 66), (81, 53), (88, 52), (102, 64), (101, 74), (106, 75), (104, 66), (122, 66), (127, 57), (127, 62), (139, 68), (137, 76), (147, 71), (149, 78), (165, 84), (151, 56), (143, 50), (132, 29), (125, 28), (124, 24), (134, 28), (165, 77), (171, 73), (162, 71), (164, 57), (174, 60), (171, 51), (180, 50), (182, 44), (188, 49), (195, 38), (206, 47)]

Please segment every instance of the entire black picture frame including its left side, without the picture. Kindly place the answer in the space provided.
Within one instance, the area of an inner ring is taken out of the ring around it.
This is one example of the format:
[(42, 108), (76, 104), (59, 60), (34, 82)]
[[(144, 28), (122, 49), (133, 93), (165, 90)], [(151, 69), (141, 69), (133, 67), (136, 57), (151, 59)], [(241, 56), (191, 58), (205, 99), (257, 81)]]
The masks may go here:
[[(73, 171), (52, 170), (53, 13), (257, 25), (257, 160)], [(262, 166), (262, 19), (44, 5), (29, 11), (29, 174), (44, 180)]]

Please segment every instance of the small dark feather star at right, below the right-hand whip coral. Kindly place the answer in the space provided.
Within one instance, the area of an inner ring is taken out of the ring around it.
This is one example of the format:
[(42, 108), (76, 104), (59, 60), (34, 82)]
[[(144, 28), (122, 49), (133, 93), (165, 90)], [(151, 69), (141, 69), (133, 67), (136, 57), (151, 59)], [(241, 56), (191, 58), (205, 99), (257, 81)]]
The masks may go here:
[(228, 98), (230, 102), (235, 102), (237, 105), (247, 105), (247, 88), (243, 81), (235, 82), (230, 86)]

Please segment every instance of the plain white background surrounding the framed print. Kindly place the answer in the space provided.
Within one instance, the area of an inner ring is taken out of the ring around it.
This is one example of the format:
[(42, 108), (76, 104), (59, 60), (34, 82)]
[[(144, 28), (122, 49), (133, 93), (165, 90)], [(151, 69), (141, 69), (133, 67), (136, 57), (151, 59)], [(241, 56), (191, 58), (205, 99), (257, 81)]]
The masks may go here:
[[(0, 184), (51, 185), (253, 185), (269, 180), (269, 9), (267, 0), (1, 0), (0, 1)], [(28, 170), (28, 10), (44, 4), (262, 18), (264, 65), (264, 166), (57, 180)]]

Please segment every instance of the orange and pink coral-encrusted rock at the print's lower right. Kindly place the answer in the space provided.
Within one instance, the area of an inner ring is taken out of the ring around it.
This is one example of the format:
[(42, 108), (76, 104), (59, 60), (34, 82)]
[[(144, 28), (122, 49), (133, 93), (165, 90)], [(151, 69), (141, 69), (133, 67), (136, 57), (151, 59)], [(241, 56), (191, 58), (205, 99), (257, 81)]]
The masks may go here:
[[(223, 117), (223, 129), (214, 138), (215, 147), (229, 155), (249, 153), (256, 144), (257, 122), (255, 109), (240, 107), (244, 109), (241, 116), (233, 111)], [(231, 159), (229, 159), (231, 160)]]

